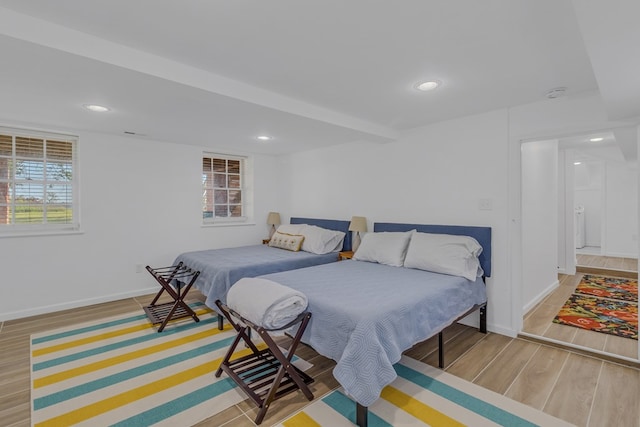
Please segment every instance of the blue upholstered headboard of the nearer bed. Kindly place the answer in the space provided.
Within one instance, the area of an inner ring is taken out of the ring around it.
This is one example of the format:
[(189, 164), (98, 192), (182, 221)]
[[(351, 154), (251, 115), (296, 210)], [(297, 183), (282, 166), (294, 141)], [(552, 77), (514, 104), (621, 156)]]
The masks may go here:
[(376, 222), (373, 231), (410, 231), (422, 233), (454, 234), (457, 236), (471, 236), (482, 246), (482, 253), (478, 257), (484, 275), (491, 276), (491, 227), (473, 227), (463, 225), (431, 225), (431, 224), (395, 224), (391, 222)]

